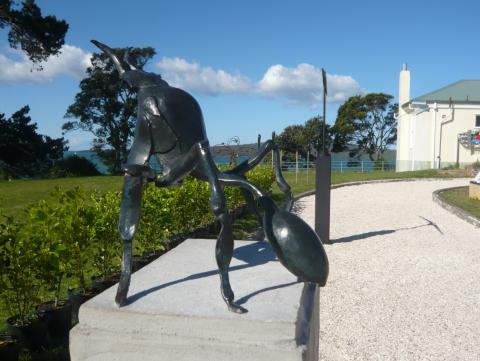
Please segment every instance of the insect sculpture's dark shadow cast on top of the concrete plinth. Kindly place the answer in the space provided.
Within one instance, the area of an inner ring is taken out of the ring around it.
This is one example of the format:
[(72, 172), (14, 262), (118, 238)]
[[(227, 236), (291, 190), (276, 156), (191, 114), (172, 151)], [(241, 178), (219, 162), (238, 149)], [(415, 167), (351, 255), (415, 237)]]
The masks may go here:
[[(212, 254), (212, 257), (214, 257), (214, 256), (215, 255)], [(230, 267), (230, 269), (229, 269), (230, 272), (234, 272), (234, 271), (241, 270), (241, 269), (248, 268), (248, 267), (259, 266), (259, 265), (262, 265), (262, 264), (265, 264), (265, 263), (268, 263), (268, 262), (278, 262), (277, 258), (275, 256), (275, 253), (272, 250), (272, 247), (267, 242), (255, 242), (255, 243), (251, 243), (251, 244), (246, 244), (246, 245), (241, 246), (241, 247), (237, 247), (233, 252), (233, 257), (245, 262), (246, 264)], [(196, 280), (196, 279), (199, 279), (199, 278), (205, 278), (205, 277), (210, 277), (210, 276), (215, 276), (215, 275), (218, 275), (218, 270), (217, 269), (211, 270), (211, 271), (195, 273), (195, 274), (192, 274), (192, 275), (184, 277), (184, 278), (180, 278), (180, 279), (177, 279), (177, 280), (174, 280), (174, 281), (163, 283), (163, 284), (155, 286), (155, 287), (151, 287), (147, 290), (143, 290), (141, 292), (137, 292), (137, 293), (129, 296), (127, 298), (126, 305), (130, 305), (130, 304), (138, 301), (139, 299), (141, 299), (141, 298), (143, 298), (143, 297), (145, 297), (145, 296), (147, 296), (147, 295), (149, 295), (153, 292), (159, 291), (163, 288), (167, 288), (167, 287), (170, 287), (170, 286), (182, 283), (182, 282), (193, 281), (193, 280)], [(270, 289), (275, 289), (275, 288), (280, 288), (280, 287), (285, 287), (285, 286), (288, 286), (288, 284), (273, 286), (273, 287), (270, 287), (268, 289), (255, 291), (255, 292), (251, 293), (250, 295), (242, 297), (242, 299), (244, 299), (243, 303), (245, 303), (248, 299), (250, 299), (251, 297), (253, 297), (256, 294), (269, 291)], [(220, 297), (220, 295), (219, 295), (219, 297)]]

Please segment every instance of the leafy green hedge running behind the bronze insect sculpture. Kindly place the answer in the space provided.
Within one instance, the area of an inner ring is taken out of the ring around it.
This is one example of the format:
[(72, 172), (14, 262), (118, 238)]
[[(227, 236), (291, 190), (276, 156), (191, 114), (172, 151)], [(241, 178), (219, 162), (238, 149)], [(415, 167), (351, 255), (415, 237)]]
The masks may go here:
[[(247, 177), (271, 191), (274, 174), (270, 168), (257, 168)], [(229, 209), (244, 204), (238, 188), (225, 187), (224, 191)], [(39, 298), (58, 299), (66, 284), (86, 287), (90, 276), (106, 277), (118, 271), (119, 209), (120, 192), (87, 196), (76, 187), (56, 188), (49, 200), (29, 206), (21, 224), (0, 214), (0, 297), (8, 313), (18, 313), (19, 307), (12, 305), (21, 304), (21, 316), (27, 319)], [(215, 221), (208, 183), (192, 177), (186, 177), (179, 187), (146, 186), (142, 214), (134, 240), (137, 254), (163, 249), (176, 235)]]

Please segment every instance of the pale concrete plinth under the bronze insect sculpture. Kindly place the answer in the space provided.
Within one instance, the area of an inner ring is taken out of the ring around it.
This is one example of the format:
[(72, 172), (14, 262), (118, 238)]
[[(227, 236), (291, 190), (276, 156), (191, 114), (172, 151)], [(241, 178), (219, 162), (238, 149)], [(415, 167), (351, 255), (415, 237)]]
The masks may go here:
[(266, 242), (237, 241), (230, 267), (234, 314), (220, 296), (215, 240), (190, 239), (80, 308), (72, 361), (318, 360), (316, 285), (299, 283)]

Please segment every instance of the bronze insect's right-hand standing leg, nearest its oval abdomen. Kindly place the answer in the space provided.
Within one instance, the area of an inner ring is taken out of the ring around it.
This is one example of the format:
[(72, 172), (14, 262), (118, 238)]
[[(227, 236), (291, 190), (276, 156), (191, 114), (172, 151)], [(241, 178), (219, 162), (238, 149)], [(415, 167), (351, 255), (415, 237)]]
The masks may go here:
[(208, 148), (201, 149), (200, 164), (203, 176), (210, 184), (211, 206), (215, 217), (220, 222), (221, 229), (215, 246), (215, 258), (220, 274), (220, 289), (228, 309), (235, 313), (245, 313), (247, 310), (234, 302), (234, 294), (230, 286), (228, 268), (233, 256), (232, 221), (228, 215), (225, 195), (218, 181), (218, 171)]

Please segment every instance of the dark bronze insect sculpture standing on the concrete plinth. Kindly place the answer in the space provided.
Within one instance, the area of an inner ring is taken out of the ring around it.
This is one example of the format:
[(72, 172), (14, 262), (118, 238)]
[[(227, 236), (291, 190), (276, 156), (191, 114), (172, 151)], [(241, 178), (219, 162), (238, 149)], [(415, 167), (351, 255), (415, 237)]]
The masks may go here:
[[(155, 182), (158, 187), (175, 184), (187, 174), (207, 181), (211, 190), (211, 208), (220, 222), (215, 256), (220, 274), (222, 298), (230, 311), (246, 310), (234, 301), (228, 270), (233, 255), (231, 219), (221, 185), (242, 189), (247, 203), (264, 211), (263, 230), (280, 262), (301, 281), (324, 286), (328, 277), (328, 259), (316, 233), (299, 217), (290, 213), (292, 195), (280, 169), (279, 150), (274, 139), (265, 142), (258, 154), (237, 167), (221, 172), (210, 152), (202, 111), (197, 101), (187, 92), (168, 85), (158, 74), (136, 69), (128, 60), (123, 62), (105, 44), (92, 43), (113, 61), (120, 77), (137, 91), (138, 115), (135, 136), (127, 163), (120, 209), (119, 231), (123, 241), (120, 282), (115, 302), (127, 303), (131, 277), (132, 240), (140, 221), (142, 185)], [(287, 194), (287, 209), (279, 209), (261, 189), (248, 182), (245, 173), (254, 168), (271, 151), (275, 157), (275, 176), (280, 189)], [(148, 163), (155, 156), (162, 165), (163, 174), (156, 175)], [(258, 209), (255, 208), (259, 216)], [(261, 221), (261, 219), (260, 219)]]

